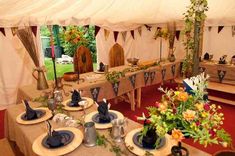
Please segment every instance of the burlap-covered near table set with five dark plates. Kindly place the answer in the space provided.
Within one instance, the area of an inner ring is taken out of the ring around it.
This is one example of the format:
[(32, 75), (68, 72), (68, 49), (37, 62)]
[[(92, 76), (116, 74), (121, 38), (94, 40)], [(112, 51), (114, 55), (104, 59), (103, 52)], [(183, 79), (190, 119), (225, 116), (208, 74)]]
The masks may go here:
[[(33, 107), (38, 107), (40, 104), (39, 103), (33, 103), (30, 102), (31, 106)], [(96, 109), (96, 106), (93, 105), (89, 109), (87, 109), (87, 113), (92, 112)], [(18, 104), (15, 106), (10, 106), (6, 110), (6, 133), (7, 137), (9, 140), (14, 141), (16, 145), (19, 147), (20, 151), (25, 155), (25, 156), (35, 156), (36, 154), (32, 150), (32, 144), (34, 140), (40, 136), (41, 134), (46, 132), (46, 125), (45, 123), (39, 123), (39, 124), (34, 124), (34, 125), (21, 125), (16, 122), (16, 117), (24, 111), (24, 106), (23, 104)], [(82, 111), (81, 112), (70, 112), (70, 116), (73, 116), (75, 119), (81, 119), (82, 116)], [(58, 128), (61, 125), (51, 122), (53, 128)], [(139, 123), (136, 123), (132, 120), (128, 119), (128, 126), (126, 131), (129, 132), (135, 128), (139, 128), (141, 125)], [(82, 127), (80, 129), (83, 131)], [(106, 137), (109, 136), (109, 131), (108, 130), (98, 130), (100, 134), (104, 134)], [(125, 152), (127, 152), (128, 156), (132, 156), (132, 154), (124, 145), (124, 143), (119, 144), (122, 149), (124, 149)], [(209, 154), (198, 150), (190, 145), (184, 144), (183, 146), (186, 147), (190, 155), (193, 156), (207, 156)], [(161, 151), (161, 155), (168, 155), (170, 153), (170, 149), (164, 149)], [(83, 144), (81, 144), (78, 148), (76, 148), (74, 151), (66, 154), (66, 156), (112, 156), (115, 155), (114, 153), (109, 151), (109, 148), (104, 148), (100, 146), (95, 146), (95, 147), (86, 147)]]

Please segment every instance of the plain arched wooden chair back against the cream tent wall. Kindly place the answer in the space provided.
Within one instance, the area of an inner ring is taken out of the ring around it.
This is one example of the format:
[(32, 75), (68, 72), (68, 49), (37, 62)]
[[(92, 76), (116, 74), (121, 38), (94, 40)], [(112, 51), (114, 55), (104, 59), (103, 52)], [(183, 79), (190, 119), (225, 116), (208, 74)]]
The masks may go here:
[(109, 66), (121, 65), (124, 65), (124, 50), (118, 43), (115, 43), (109, 51)]

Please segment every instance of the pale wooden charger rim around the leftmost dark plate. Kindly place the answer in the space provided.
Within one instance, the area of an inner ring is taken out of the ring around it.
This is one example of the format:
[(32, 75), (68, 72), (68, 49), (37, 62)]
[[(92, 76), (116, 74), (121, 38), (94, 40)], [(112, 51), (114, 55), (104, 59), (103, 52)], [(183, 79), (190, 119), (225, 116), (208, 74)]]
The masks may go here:
[(37, 124), (37, 123), (40, 123), (40, 122), (43, 122), (43, 121), (46, 121), (48, 119), (50, 119), (52, 117), (52, 113), (51, 111), (48, 109), (48, 108), (44, 108), (44, 107), (40, 107), (40, 108), (33, 108), (34, 110), (44, 110), (45, 111), (45, 115), (43, 115), (41, 118), (39, 119), (34, 119), (34, 120), (22, 120), (21, 119), (21, 116), (25, 113), (25, 111), (21, 114), (19, 114), (17, 117), (16, 117), (16, 122), (19, 123), (19, 124), (23, 124), (23, 125), (32, 125), (32, 124)]

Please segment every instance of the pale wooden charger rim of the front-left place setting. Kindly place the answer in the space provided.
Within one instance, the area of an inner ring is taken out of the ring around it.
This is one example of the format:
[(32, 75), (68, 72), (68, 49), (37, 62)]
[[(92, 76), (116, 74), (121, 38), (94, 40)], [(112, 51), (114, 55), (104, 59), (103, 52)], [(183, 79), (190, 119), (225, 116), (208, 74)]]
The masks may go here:
[(34, 153), (36, 153), (37, 155), (40, 155), (40, 156), (45, 156), (45, 155), (47, 155), (47, 156), (65, 155), (65, 154), (70, 153), (73, 150), (75, 150), (82, 143), (83, 134), (77, 128), (74, 128), (74, 127), (63, 127), (63, 128), (58, 128), (58, 129), (55, 129), (55, 130), (68, 130), (68, 131), (73, 132), (73, 134), (74, 134), (73, 141), (71, 143), (69, 143), (68, 145), (60, 147), (60, 148), (48, 149), (48, 148), (45, 148), (42, 145), (42, 140), (47, 135), (47, 133), (44, 133), (44, 134), (40, 135), (33, 142), (32, 149), (33, 149)]

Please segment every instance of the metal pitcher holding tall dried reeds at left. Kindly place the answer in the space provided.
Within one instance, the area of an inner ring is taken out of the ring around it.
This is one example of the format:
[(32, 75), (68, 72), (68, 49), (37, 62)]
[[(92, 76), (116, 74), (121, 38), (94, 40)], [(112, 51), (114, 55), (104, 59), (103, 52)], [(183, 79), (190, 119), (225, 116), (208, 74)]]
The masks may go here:
[[(38, 72), (38, 76), (35, 75), (35, 72)], [(44, 75), (43, 67), (37, 67), (33, 70), (33, 77), (37, 80), (37, 89), (43, 90), (48, 88), (47, 80)]]

